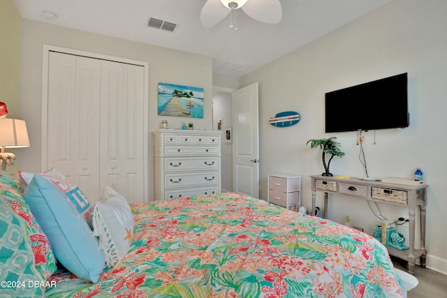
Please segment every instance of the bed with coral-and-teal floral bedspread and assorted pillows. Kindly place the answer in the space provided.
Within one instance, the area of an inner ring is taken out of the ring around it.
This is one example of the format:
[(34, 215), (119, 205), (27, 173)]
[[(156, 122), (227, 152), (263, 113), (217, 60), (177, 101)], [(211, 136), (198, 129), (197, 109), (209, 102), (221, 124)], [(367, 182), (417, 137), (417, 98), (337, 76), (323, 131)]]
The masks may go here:
[(0, 173), (1, 297), (404, 295), (386, 248), (344, 225), (237, 193), (105, 190), (91, 207), (55, 169)]

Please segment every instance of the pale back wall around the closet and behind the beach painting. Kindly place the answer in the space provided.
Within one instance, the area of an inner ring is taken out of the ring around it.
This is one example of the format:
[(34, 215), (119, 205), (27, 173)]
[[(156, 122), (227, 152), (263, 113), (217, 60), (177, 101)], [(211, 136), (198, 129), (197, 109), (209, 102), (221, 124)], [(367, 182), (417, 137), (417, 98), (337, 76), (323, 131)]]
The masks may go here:
[[(1, 22), (3, 24), (3, 22)], [(43, 45), (57, 45), (75, 50), (124, 57), (149, 64), (149, 124), (148, 131), (159, 128), (167, 119), (170, 128), (180, 128), (183, 117), (160, 117), (157, 114), (158, 83), (203, 87), (205, 92), (204, 118), (191, 118), (196, 129), (212, 129), (212, 58), (171, 50), (129, 40), (101, 36), (50, 24), (23, 20), (20, 114), (27, 120), (30, 149), (17, 151), (17, 169), (41, 171), (41, 103)], [(149, 135), (149, 200), (154, 199), (153, 137)], [(8, 170), (10, 170), (8, 168)]]

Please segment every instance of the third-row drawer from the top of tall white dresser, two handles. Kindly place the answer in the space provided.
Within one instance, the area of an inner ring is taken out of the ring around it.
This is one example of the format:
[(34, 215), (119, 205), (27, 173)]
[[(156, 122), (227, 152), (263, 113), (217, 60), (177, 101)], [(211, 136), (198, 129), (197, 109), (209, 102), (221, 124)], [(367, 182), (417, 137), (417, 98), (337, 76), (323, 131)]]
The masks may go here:
[(167, 157), (165, 158), (166, 172), (189, 170), (218, 170), (219, 158), (210, 157)]

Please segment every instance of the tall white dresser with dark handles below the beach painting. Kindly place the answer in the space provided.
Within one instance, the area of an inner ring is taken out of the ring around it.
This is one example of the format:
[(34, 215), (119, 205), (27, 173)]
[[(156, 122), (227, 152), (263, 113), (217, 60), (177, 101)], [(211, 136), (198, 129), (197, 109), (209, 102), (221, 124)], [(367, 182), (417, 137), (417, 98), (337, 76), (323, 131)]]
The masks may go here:
[(154, 131), (155, 200), (221, 192), (221, 132)]

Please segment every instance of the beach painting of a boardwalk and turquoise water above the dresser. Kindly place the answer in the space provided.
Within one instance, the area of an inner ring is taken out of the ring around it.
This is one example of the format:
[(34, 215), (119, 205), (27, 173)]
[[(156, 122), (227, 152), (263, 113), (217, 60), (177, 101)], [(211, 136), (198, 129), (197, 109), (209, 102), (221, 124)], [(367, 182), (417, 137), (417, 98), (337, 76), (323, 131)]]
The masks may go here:
[(159, 115), (203, 118), (203, 88), (159, 83)]

